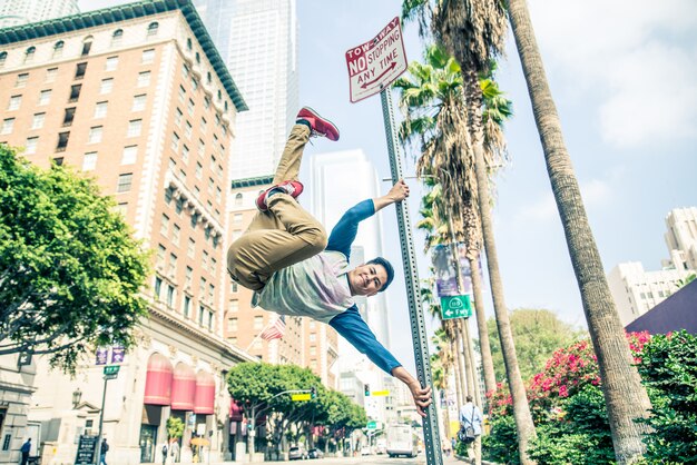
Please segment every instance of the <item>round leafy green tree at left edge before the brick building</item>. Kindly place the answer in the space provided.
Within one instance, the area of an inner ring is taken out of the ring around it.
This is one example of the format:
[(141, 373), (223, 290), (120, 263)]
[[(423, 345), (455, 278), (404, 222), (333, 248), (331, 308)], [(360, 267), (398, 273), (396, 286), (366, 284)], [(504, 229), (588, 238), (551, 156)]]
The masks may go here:
[(0, 145), (0, 355), (47, 354), (73, 372), (97, 346), (132, 344), (148, 255), (97, 184)]

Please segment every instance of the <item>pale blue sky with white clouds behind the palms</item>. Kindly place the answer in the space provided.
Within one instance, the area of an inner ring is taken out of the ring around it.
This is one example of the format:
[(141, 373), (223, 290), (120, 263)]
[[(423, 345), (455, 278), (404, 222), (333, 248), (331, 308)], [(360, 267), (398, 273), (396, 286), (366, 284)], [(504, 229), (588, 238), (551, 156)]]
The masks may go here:
[[(82, 11), (118, 3), (124, 1), (80, 0)], [(603, 266), (642, 261), (646, 269), (658, 269), (668, 257), (666, 215), (697, 205), (697, 2), (530, 0), (529, 6)], [(301, 102), (342, 130), (338, 142), (320, 140), (312, 150), (363, 149), (381, 178), (390, 169), (380, 98), (348, 102), (344, 52), (373, 38), (400, 11), (397, 0), (297, 0)], [(404, 28), (408, 58), (420, 59), (418, 27)], [(505, 126), (511, 161), (495, 179), (493, 211), (507, 304), (549, 308), (585, 326), (512, 37), (497, 78), (516, 111)], [(405, 176), (413, 172), (408, 161)], [(410, 184), (414, 224), (419, 188)], [(385, 255), (400, 264), (400, 251), (391, 246), (399, 244), (394, 216), (381, 215)], [(420, 237), (415, 240), (420, 249)], [(425, 269), (426, 258), (419, 265)], [(393, 349), (413, 366), (411, 339), (402, 337), (410, 334), (404, 288), (393, 287)], [(484, 306), (492, 315), (489, 295)]]

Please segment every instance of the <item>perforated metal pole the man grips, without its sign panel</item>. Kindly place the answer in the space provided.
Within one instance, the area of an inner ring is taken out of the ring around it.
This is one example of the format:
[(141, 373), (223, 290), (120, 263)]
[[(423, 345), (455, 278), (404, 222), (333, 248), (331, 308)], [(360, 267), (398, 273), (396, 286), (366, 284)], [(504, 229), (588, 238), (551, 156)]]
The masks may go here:
[[(402, 179), (402, 159), (400, 157), (400, 145), (396, 138), (394, 113), (392, 111), (392, 96), (389, 87), (385, 87), (380, 92), (380, 100), (382, 101), (382, 115), (385, 122), (385, 136), (387, 137), (392, 182), (396, 182)], [(402, 246), (402, 264), (404, 265), (404, 278), (406, 280), (409, 316), (412, 327), (412, 339), (414, 342), (416, 376), (422, 386), (433, 386), (429, 344), (426, 340), (423, 309), (421, 308), (421, 296), (419, 291), (419, 274), (416, 273), (414, 243), (412, 240), (411, 222), (409, 220), (409, 207), (406, 206), (406, 201), (395, 204), (395, 207), (396, 221), (400, 229), (400, 245)], [(438, 429), (435, 392), (431, 392), (431, 399), (432, 403), (426, 409), (426, 417), (423, 419), (423, 443), (426, 449), (426, 463), (429, 465), (442, 465), (443, 457), (441, 455), (441, 438)]]

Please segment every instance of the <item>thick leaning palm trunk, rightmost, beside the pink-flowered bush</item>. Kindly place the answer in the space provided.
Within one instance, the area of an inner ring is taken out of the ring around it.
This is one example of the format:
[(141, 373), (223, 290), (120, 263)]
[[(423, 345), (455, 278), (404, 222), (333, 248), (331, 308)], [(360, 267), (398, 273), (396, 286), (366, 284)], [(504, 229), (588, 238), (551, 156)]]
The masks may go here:
[(547, 171), (561, 217), (571, 264), (581, 291), (588, 329), (600, 367), (615, 456), (629, 464), (644, 454), (641, 436), (647, 427), (635, 421), (647, 414), (650, 402), (632, 367), (629, 346), (610, 295), (561, 122), (547, 82), (534, 30), (524, 0), (508, 1), (509, 19), (528, 83), (534, 121), (542, 141)]

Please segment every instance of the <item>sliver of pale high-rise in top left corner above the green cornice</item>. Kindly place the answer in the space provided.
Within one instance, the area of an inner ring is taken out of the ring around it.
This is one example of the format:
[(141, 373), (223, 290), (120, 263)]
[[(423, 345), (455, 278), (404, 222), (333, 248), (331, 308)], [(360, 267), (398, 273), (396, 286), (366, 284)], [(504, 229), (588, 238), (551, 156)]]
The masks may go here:
[(77, 0), (0, 0), (0, 28), (76, 14)]

